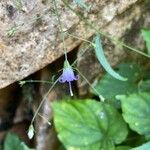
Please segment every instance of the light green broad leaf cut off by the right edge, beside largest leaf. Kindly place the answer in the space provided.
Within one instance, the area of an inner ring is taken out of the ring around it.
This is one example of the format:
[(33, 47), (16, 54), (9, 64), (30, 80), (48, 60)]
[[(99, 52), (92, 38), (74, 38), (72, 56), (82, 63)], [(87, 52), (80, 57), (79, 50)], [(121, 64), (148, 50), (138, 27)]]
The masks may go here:
[(120, 96), (123, 117), (130, 128), (141, 135), (150, 135), (150, 93)]

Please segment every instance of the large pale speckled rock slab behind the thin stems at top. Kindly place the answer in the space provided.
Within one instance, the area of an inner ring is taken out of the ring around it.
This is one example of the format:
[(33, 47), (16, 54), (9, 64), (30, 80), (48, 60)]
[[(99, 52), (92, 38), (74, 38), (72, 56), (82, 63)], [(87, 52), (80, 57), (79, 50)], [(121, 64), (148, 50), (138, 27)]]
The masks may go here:
[[(116, 16), (137, 2), (144, 3), (141, 0), (87, 1), (87, 4), (91, 5), (91, 10), (87, 13), (83, 13), (83, 10), (72, 1), (69, 2), (69, 5), (75, 11), (86, 16), (92, 24), (103, 29)], [(62, 1), (58, 0), (57, 6), (61, 14), (63, 30), (85, 39), (95, 33), (65, 7)], [(131, 19), (136, 17), (138, 16), (133, 15)], [(122, 22), (122, 24), (124, 23)], [(117, 25), (109, 27), (110, 34), (113, 34), (115, 27)], [(81, 40), (65, 34), (67, 51), (73, 50), (81, 42)], [(63, 55), (63, 46), (52, 0), (1, 0), (0, 88), (40, 70), (61, 55)]]

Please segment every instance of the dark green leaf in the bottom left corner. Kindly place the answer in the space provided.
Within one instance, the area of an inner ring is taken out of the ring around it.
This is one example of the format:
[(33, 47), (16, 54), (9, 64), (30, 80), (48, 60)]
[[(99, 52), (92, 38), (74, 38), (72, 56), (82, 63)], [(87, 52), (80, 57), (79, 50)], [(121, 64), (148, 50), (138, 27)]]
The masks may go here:
[(4, 142), (4, 150), (31, 150), (18, 136), (8, 133)]

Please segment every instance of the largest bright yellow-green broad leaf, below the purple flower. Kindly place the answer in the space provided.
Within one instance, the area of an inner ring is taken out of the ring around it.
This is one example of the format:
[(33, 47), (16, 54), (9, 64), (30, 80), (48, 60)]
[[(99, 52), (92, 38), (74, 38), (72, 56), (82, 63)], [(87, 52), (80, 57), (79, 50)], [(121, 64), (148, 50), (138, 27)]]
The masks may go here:
[(122, 116), (111, 106), (94, 100), (54, 102), (54, 124), (67, 150), (114, 150), (127, 136)]

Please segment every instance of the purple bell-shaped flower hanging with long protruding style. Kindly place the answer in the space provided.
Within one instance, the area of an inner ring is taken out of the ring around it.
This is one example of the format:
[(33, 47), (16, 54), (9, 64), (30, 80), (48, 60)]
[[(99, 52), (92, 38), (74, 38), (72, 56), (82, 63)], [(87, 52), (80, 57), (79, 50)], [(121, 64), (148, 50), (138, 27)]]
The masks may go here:
[(63, 68), (63, 73), (59, 77), (59, 82), (60, 83), (69, 83), (69, 90), (70, 90), (70, 95), (73, 96), (72, 92), (72, 87), (71, 87), (71, 81), (78, 80), (78, 76), (75, 76), (72, 67), (70, 66), (68, 60), (65, 60), (64, 62), (64, 68)]

